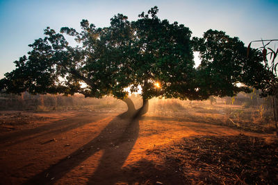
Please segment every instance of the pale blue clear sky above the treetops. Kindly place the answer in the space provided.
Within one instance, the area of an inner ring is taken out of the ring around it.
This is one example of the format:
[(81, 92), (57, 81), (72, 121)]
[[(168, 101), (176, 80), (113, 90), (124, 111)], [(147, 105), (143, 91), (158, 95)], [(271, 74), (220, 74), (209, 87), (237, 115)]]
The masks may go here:
[(278, 39), (278, 0), (0, 0), (0, 79), (15, 69), (13, 62), (30, 51), (28, 44), (43, 37), (47, 26), (79, 30), (80, 21), (88, 19), (104, 27), (117, 13), (132, 21), (154, 6), (160, 19), (184, 24), (193, 36), (223, 30), (246, 46), (256, 39)]

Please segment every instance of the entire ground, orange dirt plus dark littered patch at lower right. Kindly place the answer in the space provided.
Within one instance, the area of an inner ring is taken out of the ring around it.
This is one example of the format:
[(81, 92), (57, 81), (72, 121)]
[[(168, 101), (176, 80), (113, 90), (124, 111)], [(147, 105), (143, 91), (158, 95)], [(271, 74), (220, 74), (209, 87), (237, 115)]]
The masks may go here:
[(278, 184), (273, 134), (154, 109), (2, 111), (0, 184)]

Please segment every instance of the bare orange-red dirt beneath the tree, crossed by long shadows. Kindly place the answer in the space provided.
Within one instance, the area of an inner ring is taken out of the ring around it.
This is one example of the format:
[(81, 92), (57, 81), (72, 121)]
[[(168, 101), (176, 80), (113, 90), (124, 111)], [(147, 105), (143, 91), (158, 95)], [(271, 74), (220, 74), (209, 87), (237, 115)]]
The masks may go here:
[(143, 177), (134, 164), (161, 161), (148, 152), (154, 147), (187, 136), (263, 136), (148, 114), (133, 120), (91, 112), (32, 115), (46, 119), (0, 134), (0, 184), (136, 184)]

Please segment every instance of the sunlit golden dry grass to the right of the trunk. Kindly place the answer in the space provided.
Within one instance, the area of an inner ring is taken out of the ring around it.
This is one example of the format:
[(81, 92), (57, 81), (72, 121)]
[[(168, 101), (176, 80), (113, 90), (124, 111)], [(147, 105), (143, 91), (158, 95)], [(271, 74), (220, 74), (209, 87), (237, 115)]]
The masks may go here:
[(275, 130), (272, 109), (263, 104), (252, 107), (227, 105), (222, 99), (211, 105), (210, 100), (152, 99), (149, 114), (170, 116), (183, 121), (227, 125), (239, 129), (272, 133)]

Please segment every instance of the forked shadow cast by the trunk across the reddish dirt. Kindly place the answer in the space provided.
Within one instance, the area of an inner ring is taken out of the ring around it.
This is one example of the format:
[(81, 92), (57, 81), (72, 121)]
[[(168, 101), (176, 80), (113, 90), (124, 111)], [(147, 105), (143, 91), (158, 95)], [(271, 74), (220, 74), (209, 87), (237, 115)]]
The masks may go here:
[[(95, 172), (96, 175), (103, 173), (103, 170), (106, 167), (109, 168), (111, 163), (113, 163), (113, 169), (120, 169), (138, 138), (140, 118), (141, 116), (138, 114), (128, 117), (122, 117), (122, 115), (115, 117), (97, 137), (72, 152), (69, 155), (70, 158), (61, 159), (58, 163), (47, 168), (47, 170), (28, 179), (24, 184), (54, 184), (58, 179), (99, 150), (104, 150), (104, 155), (101, 157), (99, 167)], [(114, 158), (112, 159), (111, 156)], [(107, 161), (110, 161), (110, 164)], [(92, 181), (95, 182), (95, 179), (90, 179), (90, 182)], [(99, 181), (97, 184), (103, 183)]]

